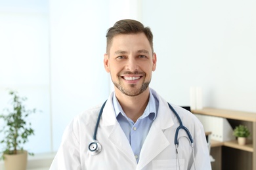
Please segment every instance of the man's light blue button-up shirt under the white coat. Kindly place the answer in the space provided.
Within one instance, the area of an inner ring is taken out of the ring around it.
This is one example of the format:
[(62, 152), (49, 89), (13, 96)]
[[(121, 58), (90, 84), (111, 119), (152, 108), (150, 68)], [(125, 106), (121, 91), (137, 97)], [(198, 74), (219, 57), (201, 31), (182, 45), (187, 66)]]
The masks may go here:
[(137, 122), (133, 122), (133, 120), (126, 116), (125, 112), (123, 112), (123, 109), (121, 108), (121, 105), (117, 101), (115, 94), (113, 95), (112, 101), (114, 110), (116, 112), (117, 121), (119, 122), (123, 132), (131, 144), (131, 148), (135, 154), (135, 159), (138, 162), (140, 159), (139, 156), (142, 145), (146, 139), (146, 136), (148, 135), (148, 131), (150, 130), (153, 121), (156, 119), (158, 114), (158, 99), (156, 99), (150, 91), (148, 105)]

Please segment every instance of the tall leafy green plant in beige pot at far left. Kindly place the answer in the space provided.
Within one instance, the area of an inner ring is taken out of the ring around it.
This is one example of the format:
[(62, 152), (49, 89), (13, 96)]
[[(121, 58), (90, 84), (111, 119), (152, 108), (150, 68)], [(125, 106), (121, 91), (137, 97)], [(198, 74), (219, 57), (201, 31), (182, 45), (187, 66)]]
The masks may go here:
[(23, 145), (28, 142), (28, 137), (34, 134), (31, 123), (26, 122), (26, 118), (36, 110), (26, 109), (26, 97), (20, 97), (14, 91), (9, 93), (12, 96), (11, 109), (4, 109), (3, 114), (0, 114), (0, 119), (4, 122), (3, 127), (0, 127), (0, 133), (3, 133), (3, 139), (0, 139), (3, 146), (0, 158), (5, 161), (5, 170), (26, 170), (28, 152), (23, 149)]

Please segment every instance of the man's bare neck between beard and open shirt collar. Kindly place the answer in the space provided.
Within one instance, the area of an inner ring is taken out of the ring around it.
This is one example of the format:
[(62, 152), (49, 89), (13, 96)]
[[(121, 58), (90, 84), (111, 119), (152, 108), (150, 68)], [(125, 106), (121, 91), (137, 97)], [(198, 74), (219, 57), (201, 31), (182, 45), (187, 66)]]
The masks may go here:
[(116, 98), (119, 101), (123, 111), (133, 122), (137, 122), (138, 118), (143, 114), (148, 105), (150, 90), (147, 88), (143, 93), (137, 96), (128, 96), (115, 90)]

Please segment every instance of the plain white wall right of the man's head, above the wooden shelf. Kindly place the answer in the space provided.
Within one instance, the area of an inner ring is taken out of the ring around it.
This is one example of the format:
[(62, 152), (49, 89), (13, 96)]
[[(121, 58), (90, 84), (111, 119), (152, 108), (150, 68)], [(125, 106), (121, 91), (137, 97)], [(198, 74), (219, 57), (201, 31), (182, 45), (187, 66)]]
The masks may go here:
[(190, 87), (201, 86), (204, 107), (256, 112), (255, 9), (255, 1), (144, 0), (158, 54), (152, 87), (189, 105)]

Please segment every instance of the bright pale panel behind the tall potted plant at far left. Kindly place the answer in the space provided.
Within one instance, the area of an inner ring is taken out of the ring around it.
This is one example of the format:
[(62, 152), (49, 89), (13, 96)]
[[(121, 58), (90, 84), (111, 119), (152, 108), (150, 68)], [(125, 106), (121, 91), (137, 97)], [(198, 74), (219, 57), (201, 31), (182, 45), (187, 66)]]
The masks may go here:
[(35, 153), (51, 150), (47, 7), (45, 1), (0, 1), (0, 114), (11, 110), (9, 90), (28, 97), (26, 109), (41, 110), (29, 118), (36, 135), (24, 146)]

